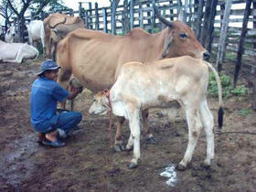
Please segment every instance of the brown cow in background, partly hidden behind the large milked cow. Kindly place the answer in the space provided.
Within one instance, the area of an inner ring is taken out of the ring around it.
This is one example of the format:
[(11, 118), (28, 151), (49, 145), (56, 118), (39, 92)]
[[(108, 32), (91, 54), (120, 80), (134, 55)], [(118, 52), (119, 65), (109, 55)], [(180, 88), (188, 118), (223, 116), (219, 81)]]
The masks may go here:
[[(50, 27), (59, 27), (58, 29), (51, 30)], [(68, 28), (66, 28), (66, 26)], [(67, 16), (64, 14), (51, 14), (47, 18), (44, 19), (44, 31), (45, 31), (45, 46), (46, 46), (46, 54), (48, 58), (53, 58), (54, 47), (57, 42), (67, 35), (70, 31), (81, 27), (84, 27), (83, 21), (79, 16)], [(56, 30), (59, 30), (61, 33), (61, 37), (56, 35)], [(65, 35), (63, 35), (63, 33)]]

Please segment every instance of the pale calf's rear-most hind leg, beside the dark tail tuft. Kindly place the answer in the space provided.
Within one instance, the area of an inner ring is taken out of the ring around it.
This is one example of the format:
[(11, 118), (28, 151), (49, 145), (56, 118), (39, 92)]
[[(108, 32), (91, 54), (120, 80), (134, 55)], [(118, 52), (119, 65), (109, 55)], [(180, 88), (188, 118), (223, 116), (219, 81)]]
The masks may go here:
[(214, 133), (213, 133), (213, 116), (208, 109), (208, 102), (203, 101), (200, 106), (200, 116), (205, 128), (207, 140), (207, 157), (204, 166), (209, 167), (211, 160), (214, 158)]

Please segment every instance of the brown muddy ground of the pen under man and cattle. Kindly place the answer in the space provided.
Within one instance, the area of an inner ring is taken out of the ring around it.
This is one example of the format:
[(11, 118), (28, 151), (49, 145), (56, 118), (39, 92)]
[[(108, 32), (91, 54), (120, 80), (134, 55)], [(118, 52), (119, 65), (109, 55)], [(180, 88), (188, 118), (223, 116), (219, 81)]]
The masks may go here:
[[(215, 160), (205, 169), (201, 166), (206, 156), (202, 132), (192, 164), (183, 172), (175, 171), (174, 182), (168, 186), (168, 178), (160, 174), (168, 165), (177, 165), (187, 148), (183, 112), (150, 112), (150, 128), (158, 144), (146, 144), (142, 138), (140, 165), (129, 170), (133, 153), (114, 153), (109, 147), (108, 115), (88, 113), (88, 91), (77, 99), (75, 109), (83, 113), (83, 120), (67, 145), (38, 145), (29, 123), (29, 88), (39, 63), (0, 63), (0, 191), (256, 191), (255, 134), (216, 135)], [(209, 106), (217, 122), (217, 99), (209, 98)], [(247, 97), (226, 100), (223, 132), (256, 133), (255, 112), (240, 114), (249, 106)], [(125, 123), (124, 142), (128, 136)]]

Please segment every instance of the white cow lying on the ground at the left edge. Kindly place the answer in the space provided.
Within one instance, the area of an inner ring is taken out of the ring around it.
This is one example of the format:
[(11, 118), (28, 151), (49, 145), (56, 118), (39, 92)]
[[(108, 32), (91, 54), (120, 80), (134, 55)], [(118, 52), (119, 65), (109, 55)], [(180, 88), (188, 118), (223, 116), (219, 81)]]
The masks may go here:
[(38, 50), (27, 43), (5, 43), (0, 40), (0, 61), (21, 63), (26, 59), (37, 59)]

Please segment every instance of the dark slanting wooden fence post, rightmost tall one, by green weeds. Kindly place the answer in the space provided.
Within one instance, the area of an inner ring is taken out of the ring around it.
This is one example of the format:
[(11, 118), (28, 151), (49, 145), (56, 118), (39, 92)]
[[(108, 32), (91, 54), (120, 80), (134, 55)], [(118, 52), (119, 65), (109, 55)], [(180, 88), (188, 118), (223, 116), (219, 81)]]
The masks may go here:
[(241, 34), (240, 34), (240, 43), (238, 48), (237, 62), (236, 62), (236, 68), (234, 73), (234, 87), (237, 86), (237, 81), (240, 73), (241, 57), (243, 54), (243, 43), (244, 43), (244, 38), (247, 32), (247, 24), (248, 24), (249, 16), (251, 14), (251, 2), (252, 0), (246, 0), (246, 6), (244, 10), (244, 16), (243, 16), (242, 28), (241, 28)]

